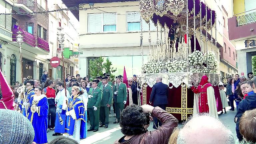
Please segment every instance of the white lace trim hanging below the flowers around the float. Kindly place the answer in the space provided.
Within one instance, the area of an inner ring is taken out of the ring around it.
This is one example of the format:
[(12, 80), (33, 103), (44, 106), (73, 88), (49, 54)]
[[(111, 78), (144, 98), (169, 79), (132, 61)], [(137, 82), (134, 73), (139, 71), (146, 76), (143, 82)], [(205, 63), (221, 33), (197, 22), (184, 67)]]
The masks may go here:
[(147, 83), (150, 87), (156, 83), (156, 78), (158, 76), (162, 77), (162, 82), (169, 85), (171, 83), (174, 87), (179, 87), (181, 83), (185, 83), (188, 88), (198, 86), (203, 75), (207, 75), (209, 82), (212, 85), (218, 85), (220, 82), (220, 74), (211, 73), (192, 73), (192, 72), (179, 72), (179, 73), (151, 73), (151, 74), (141, 74), (138, 76), (139, 84), (142, 85)]

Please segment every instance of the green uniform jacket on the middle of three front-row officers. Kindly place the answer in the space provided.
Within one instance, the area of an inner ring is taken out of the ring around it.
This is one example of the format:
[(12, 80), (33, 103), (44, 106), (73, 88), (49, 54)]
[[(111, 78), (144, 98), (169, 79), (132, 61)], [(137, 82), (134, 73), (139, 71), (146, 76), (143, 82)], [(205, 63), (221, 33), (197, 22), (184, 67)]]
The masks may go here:
[(108, 84), (105, 88), (103, 88), (103, 85), (101, 85), (101, 89), (102, 89), (102, 99), (101, 99), (100, 106), (107, 106), (107, 104), (110, 105), (113, 97), (112, 86)]

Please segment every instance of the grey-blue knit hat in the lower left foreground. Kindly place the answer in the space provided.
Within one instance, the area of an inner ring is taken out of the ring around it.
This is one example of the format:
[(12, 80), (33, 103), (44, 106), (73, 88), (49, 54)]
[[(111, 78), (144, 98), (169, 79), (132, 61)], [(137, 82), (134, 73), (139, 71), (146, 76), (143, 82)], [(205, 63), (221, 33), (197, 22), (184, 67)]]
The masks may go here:
[(21, 113), (0, 109), (1, 144), (31, 144), (34, 136), (32, 124)]

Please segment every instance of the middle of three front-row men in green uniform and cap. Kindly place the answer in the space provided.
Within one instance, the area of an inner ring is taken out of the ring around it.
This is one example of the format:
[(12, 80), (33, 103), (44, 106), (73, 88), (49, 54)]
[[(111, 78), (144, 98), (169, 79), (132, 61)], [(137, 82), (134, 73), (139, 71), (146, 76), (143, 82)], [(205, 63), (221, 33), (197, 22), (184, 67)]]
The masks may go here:
[(102, 78), (103, 85), (101, 86), (102, 89), (102, 99), (100, 103), (100, 122), (101, 125), (99, 127), (103, 127), (105, 125), (105, 128), (108, 128), (108, 118), (109, 118), (109, 107), (112, 102), (113, 92), (112, 92), (112, 86), (108, 84), (108, 77)]

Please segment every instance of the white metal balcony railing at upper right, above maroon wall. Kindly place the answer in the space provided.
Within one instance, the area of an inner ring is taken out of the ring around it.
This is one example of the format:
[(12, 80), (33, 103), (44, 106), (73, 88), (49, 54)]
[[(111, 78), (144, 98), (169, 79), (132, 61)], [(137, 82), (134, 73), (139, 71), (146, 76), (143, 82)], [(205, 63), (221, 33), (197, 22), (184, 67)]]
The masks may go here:
[(237, 17), (237, 25), (242, 26), (256, 22), (256, 11), (243, 14)]

